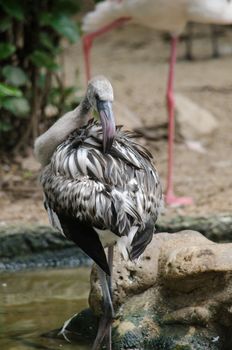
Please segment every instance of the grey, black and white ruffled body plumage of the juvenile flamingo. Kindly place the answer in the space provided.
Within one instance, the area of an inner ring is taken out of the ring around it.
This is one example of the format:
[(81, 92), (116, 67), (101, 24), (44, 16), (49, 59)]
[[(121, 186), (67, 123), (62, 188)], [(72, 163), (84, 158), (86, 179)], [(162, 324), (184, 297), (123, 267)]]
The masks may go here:
[[(138, 237), (148, 222), (155, 223), (162, 206), (151, 155), (120, 128), (112, 151), (101, 150), (102, 129), (93, 120), (57, 147), (41, 176), (50, 212), (71, 215), (119, 237), (136, 226), (137, 244), (141, 241), (143, 247), (146, 240)], [(137, 251), (135, 242), (131, 256), (143, 250)]]

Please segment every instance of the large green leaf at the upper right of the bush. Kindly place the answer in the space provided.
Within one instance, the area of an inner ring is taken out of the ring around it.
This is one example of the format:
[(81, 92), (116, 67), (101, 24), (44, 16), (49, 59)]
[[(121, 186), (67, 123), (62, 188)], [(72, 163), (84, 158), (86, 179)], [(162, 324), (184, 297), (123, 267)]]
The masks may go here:
[(65, 36), (71, 43), (75, 43), (79, 38), (79, 31), (76, 23), (66, 15), (44, 13), (41, 16), (41, 24), (51, 26), (57, 33)]

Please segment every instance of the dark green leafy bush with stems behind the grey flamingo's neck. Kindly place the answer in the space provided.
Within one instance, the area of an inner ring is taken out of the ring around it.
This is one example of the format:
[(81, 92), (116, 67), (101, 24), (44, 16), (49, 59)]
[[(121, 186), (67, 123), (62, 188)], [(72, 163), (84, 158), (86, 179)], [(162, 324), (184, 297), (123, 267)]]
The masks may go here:
[[(78, 0), (0, 0), (0, 147), (29, 144), (46, 123), (46, 107), (57, 114), (73, 102), (64, 87), (61, 41), (75, 43)], [(23, 143), (22, 143), (23, 141)]]

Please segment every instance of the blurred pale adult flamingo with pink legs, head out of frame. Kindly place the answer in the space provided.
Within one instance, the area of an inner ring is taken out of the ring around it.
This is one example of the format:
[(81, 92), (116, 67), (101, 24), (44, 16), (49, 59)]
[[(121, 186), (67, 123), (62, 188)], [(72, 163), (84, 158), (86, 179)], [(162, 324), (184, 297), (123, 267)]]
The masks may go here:
[(105, 0), (96, 5), (83, 20), (83, 49), (86, 76), (90, 78), (90, 49), (95, 38), (120, 26), (124, 22), (140, 24), (149, 28), (167, 31), (172, 36), (171, 55), (167, 84), (168, 109), (168, 171), (166, 203), (187, 205), (189, 197), (176, 197), (173, 190), (174, 151), (174, 68), (178, 36), (185, 25), (191, 22), (210, 24), (232, 23), (232, 0)]

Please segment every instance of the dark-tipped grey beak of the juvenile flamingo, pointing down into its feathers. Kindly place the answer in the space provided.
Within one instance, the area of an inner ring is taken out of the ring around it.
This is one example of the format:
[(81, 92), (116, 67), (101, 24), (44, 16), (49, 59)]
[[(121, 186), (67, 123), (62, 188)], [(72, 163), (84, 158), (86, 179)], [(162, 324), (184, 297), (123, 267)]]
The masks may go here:
[(108, 153), (113, 144), (116, 130), (112, 103), (109, 101), (97, 100), (97, 110), (102, 124), (103, 152)]

